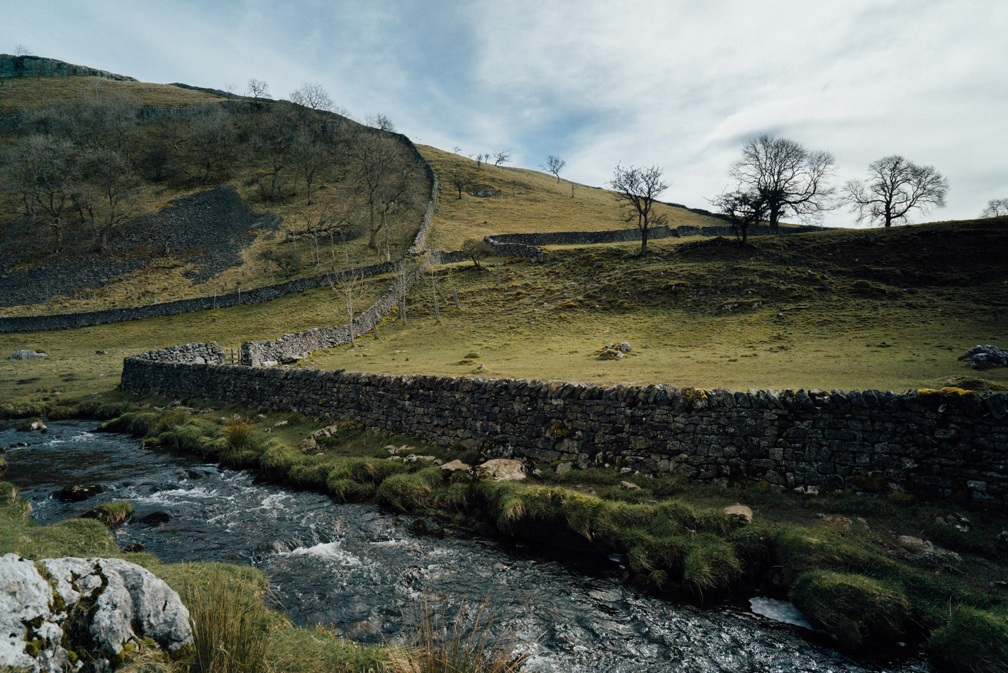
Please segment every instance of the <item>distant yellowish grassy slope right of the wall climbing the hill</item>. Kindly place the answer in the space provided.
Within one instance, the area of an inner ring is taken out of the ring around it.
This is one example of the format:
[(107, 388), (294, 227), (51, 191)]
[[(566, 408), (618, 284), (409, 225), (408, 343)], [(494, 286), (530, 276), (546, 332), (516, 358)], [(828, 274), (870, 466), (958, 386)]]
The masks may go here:
[[(621, 209), (608, 189), (575, 185), (571, 197), (571, 182), (526, 168), (484, 166), (479, 172), (483, 188), (501, 191), (496, 196), (471, 196), (454, 189), (449, 179), (454, 172), (472, 172), (476, 162), (429, 145), (418, 145), (420, 153), (434, 168), (440, 185), (437, 215), (434, 217), (428, 248), (459, 250), (466, 239), (482, 239), (491, 234), (524, 232), (580, 232), (635, 227), (627, 224), (626, 211)], [(668, 225), (708, 227), (724, 225), (716, 218), (690, 213), (664, 205), (658, 213), (667, 215)]]

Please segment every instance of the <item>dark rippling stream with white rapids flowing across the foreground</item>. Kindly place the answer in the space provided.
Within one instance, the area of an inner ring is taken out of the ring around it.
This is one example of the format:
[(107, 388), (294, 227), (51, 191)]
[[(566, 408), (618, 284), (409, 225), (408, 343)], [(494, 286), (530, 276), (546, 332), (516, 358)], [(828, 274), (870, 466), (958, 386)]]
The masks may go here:
[[(7, 450), (3, 479), (30, 499), (39, 523), (129, 500), (136, 511), (115, 529), (120, 546), (141, 544), (168, 562), (260, 568), (298, 625), (332, 625), (365, 643), (393, 640), (402, 611), (426, 590), (450, 605), (487, 599), (531, 653), (529, 672), (931, 670), (916, 653), (852, 660), (828, 636), (744, 604), (702, 609), (650, 596), (621, 580), (619, 557), (575, 562), (465, 531), (417, 537), (413, 517), (256, 484), (248, 472), (141, 448), (124, 435), (92, 432), (96, 426), (66, 421), (46, 433), (0, 432), (0, 446), (28, 444)], [(106, 491), (85, 502), (52, 497), (69, 484)], [(788, 603), (754, 604), (802, 621)]]

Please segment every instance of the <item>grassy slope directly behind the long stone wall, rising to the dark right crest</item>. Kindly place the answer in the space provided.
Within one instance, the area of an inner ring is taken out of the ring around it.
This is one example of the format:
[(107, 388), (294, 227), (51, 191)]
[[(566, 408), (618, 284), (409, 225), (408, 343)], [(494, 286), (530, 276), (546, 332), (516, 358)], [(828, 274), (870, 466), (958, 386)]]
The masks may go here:
[[(407, 327), (386, 328), (361, 352), (333, 349), (302, 364), (736, 390), (949, 385), (949, 377), (978, 376), (957, 360), (964, 351), (1008, 342), (1004, 226), (873, 231), (878, 243), (868, 246), (852, 243), (865, 232), (850, 230), (757, 238), (748, 251), (676, 253), (672, 239), (655, 242), (658, 254), (644, 262), (632, 257), (634, 244), (564, 248), (544, 265), (509, 263), (500, 285), (492, 271), (464, 263), (453, 274), (461, 311), (443, 302), (435, 323), (430, 290), (417, 286)], [(766, 303), (719, 310), (754, 299)], [(808, 308), (784, 310), (796, 305)], [(594, 357), (622, 341), (634, 349), (629, 358)], [(479, 358), (467, 359), (471, 352)]]

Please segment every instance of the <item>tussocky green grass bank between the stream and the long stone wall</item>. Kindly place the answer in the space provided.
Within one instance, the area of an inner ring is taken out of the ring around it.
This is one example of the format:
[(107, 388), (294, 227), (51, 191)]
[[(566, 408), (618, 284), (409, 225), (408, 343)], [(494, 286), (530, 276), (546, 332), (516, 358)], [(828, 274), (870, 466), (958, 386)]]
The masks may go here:
[[(150, 406), (140, 409), (138, 401)], [(199, 400), (186, 409), (160, 406), (169, 402), (123, 400), (93, 413), (118, 412), (108, 429), (142, 436), (147, 445), (201, 452), (341, 501), (377, 502), (442, 526), (478, 524), (513, 541), (548, 542), (568, 558), (615, 554), (625, 566), (622, 579), (679, 602), (789, 597), (851, 650), (895, 650), (901, 642), (926, 648), (950, 670), (955, 657), (961, 670), (1000, 670), (983, 663), (1004, 648), (1004, 592), (997, 582), (1005, 574), (996, 541), (1004, 521), (997, 515), (923, 504), (898, 492), (810, 496), (616, 470), (557, 474), (555, 465), (530, 465), (540, 477), (521, 484), (475, 480), (422, 459), (389, 460), (384, 447), (409, 445), (405, 455), (470, 463), (480, 459), (474, 452), (353, 424), (317, 438), (304, 452), (293, 446), (321, 423)], [(736, 502), (752, 508), (753, 522), (724, 513)], [(960, 521), (946, 518), (952, 515), (969, 519), (968, 530), (948, 523)], [(900, 544), (903, 535), (952, 553), (914, 556)]]

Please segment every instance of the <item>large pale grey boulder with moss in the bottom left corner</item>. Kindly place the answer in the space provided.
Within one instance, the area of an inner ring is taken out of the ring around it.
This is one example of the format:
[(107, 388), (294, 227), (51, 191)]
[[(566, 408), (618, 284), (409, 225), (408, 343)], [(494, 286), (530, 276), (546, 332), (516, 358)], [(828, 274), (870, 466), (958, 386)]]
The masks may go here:
[(77, 670), (65, 646), (87, 652), (97, 670), (108, 670), (126, 644), (142, 639), (169, 652), (193, 646), (190, 614), (178, 594), (128, 561), (32, 562), (6, 554), (0, 557), (0, 668)]

